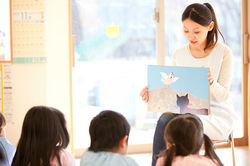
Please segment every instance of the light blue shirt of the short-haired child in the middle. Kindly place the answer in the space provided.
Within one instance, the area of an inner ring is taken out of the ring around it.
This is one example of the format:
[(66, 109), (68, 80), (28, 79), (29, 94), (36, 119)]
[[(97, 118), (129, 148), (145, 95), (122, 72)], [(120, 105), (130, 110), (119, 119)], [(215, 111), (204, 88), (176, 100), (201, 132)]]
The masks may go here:
[(92, 152), (83, 153), (80, 166), (138, 166), (129, 156), (112, 152)]

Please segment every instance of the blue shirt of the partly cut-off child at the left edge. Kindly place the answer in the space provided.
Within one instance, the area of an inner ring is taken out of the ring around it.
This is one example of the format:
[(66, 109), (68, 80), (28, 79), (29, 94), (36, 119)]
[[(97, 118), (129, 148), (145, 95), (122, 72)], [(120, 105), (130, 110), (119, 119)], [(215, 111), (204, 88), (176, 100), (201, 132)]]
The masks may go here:
[(13, 146), (7, 138), (0, 137), (0, 149), (4, 154), (4, 161), (0, 161), (1, 166), (11, 165), (12, 159), (16, 152), (16, 147)]

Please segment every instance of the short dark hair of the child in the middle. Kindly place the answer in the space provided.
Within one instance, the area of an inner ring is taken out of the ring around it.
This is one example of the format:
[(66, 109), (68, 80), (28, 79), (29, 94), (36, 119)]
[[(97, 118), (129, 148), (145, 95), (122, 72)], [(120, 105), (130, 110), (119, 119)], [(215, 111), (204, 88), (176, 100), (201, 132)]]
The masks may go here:
[(130, 125), (120, 113), (105, 110), (94, 117), (89, 126), (89, 150), (107, 151), (119, 148), (119, 143), (124, 136), (129, 136)]

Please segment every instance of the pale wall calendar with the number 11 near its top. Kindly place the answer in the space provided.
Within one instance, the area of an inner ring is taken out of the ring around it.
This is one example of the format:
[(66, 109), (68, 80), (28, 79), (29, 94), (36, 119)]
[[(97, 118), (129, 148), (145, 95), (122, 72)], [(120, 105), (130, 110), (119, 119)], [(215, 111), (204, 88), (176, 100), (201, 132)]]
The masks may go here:
[(44, 0), (12, 3), (13, 63), (46, 62)]

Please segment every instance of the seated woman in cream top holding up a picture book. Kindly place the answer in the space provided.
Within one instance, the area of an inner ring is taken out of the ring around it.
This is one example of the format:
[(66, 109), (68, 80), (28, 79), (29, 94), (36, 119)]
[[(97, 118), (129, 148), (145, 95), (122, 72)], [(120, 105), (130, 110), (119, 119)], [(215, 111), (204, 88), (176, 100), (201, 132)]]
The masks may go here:
[[(187, 67), (208, 67), (210, 84), (210, 113), (197, 115), (203, 123), (204, 133), (212, 140), (227, 139), (236, 121), (236, 114), (229, 101), (229, 88), (232, 78), (232, 52), (225, 44), (218, 42), (216, 16), (209, 3), (189, 5), (182, 14), (184, 35), (188, 45), (175, 51), (172, 64)], [(224, 39), (224, 38), (223, 38)], [(140, 93), (142, 100), (148, 101), (148, 87)], [(164, 113), (157, 122), (154, 142), (152, 166), (158, 154), (165, 149), (164, 129), (168, 122), (176, 116)], [(184, 138), (185, 139), (185, 138)]]

